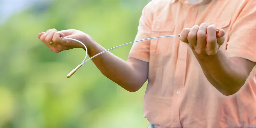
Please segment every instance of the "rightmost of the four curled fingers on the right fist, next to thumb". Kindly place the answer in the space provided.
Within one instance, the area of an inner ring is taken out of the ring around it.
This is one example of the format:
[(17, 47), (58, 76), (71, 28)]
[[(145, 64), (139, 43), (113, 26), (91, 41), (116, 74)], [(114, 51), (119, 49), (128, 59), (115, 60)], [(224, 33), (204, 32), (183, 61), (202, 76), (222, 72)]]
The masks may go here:
[(207, 44), (206, 44), (205, 52), (208, 55), (214, 55), (219, 49), (219, 46), (217, 44), (215, 25), (208, 26), (206, 31), (207, 31), (207, 37), (206, 37)]

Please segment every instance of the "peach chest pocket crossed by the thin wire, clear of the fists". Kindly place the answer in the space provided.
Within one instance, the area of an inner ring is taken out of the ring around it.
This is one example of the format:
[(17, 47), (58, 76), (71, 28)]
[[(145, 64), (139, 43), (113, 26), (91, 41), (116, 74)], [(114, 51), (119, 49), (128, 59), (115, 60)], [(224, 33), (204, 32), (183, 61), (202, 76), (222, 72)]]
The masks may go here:
[[(160, 22), (154, 21), (152, 25), (151, 37), (170, 36), (173, 34), (175, 25), (172, 21)], [(156, 55), (160, 53), (168, 53), (170, 49), (172, 37), (153, 39), (150, 43), (150, 55)]]

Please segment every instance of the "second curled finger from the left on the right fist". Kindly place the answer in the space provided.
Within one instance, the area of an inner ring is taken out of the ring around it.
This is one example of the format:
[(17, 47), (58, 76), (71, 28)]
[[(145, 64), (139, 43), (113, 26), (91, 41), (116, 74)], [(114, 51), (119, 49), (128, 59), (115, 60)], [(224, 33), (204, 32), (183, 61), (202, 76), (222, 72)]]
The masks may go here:
[(188, 33), (188, 45), (191, 49), (194, 49), (194, 46), (196, 46), (196, 40), (197, 40), (196, 34), (198, 29), (199, 29), (199, 26), (195, 25), (191, 29), (191, 31)]

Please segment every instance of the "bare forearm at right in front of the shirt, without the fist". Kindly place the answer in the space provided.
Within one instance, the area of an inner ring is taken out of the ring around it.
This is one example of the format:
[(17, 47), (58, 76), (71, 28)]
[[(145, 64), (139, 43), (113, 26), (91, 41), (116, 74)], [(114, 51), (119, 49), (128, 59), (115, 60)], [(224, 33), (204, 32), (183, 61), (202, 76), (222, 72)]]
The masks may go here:
[(236, 93), (250, 74), (248, 68), (229, 59), (220, 50), (212, 56), (194, 54), (208, 81), (224, 95)]

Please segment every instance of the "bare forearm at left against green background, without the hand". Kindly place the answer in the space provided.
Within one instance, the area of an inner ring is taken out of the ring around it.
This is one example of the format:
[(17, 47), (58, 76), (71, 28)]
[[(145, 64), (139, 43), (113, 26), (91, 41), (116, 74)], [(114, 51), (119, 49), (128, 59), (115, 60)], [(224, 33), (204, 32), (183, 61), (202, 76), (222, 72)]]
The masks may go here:
[[(88, 55), (92, 57), (105, 50), (94, 41), (88, 48)], [(93, 58), (92, 61), (104, 76), (127, 91), (135, 92), (146, 82), (141, 78), (138, 71), (133, 68), (132, 63), (115, 56), (111, 52), (105, 52)]]

